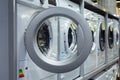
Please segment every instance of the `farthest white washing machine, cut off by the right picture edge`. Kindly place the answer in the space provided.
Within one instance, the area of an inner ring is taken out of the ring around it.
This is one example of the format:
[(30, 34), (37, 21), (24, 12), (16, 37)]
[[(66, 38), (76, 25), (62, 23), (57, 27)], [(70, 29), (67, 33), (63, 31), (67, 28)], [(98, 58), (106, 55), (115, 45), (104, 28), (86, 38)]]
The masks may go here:
[(113, 50), (113, 58), (117, 58), (119, 56), (119, 22), (117, 20), (113, 20), (114, 22), (114, 50)]

